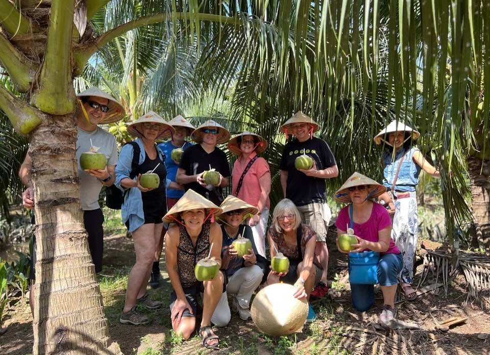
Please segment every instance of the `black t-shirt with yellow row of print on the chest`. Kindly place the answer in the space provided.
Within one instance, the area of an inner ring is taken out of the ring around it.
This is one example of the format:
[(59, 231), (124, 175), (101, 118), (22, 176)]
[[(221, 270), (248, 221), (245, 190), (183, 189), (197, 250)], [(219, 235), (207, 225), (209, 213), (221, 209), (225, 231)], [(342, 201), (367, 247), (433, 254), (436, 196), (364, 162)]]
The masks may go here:
[(306, 176), (295, 168), (295, 159), (303, 154), (303, 149), (306, 155), (313, 158), (317, 170), (336, 165), (335, 157), (324, 140), (313, 137), (305, 142), (297, 139), (289, 142), (284, 147), (281, 159), (281, 170), (287, 171), (286, 198), (297, 206), (326, 202), (325, 179)]

